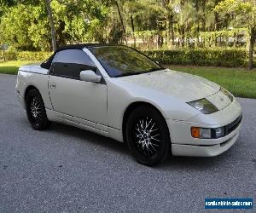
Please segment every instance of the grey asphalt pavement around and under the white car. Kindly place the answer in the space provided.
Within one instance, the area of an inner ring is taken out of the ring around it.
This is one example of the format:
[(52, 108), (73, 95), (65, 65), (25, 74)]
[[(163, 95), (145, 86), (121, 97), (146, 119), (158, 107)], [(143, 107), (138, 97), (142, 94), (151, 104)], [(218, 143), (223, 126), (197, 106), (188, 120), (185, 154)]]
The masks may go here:
[(255, 205), (256, 100), (238, 99), (241, 135), (228, 152), (150, 168), (123, 144), (84, 130), (32, 130), (14, 90), (15, 76), (0, 75), (0, 212), (198, 212), (212, 197)]

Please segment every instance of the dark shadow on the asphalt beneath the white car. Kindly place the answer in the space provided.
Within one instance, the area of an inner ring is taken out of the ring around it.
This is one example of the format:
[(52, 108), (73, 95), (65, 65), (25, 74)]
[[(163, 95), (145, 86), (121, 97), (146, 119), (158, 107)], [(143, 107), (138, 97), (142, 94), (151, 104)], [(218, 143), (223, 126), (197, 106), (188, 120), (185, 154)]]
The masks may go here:
[[(115, 141), (111, 138), (97, 135), (93, 132), (81, 130), (79, 128), (65, 125), (65, 124), (57, 124), (53, 123), (50, 125), (49, 130), (57, 133), (58, 135), (78, 138), (79, 140), (84, 141), (84, 143), (93, 143), (96, 146), (102, 146), (110, 151), (114, 151), (116, 153), (121, 153), (126, 156), (131, 156), (129, 153), (128, 147), (126, 147), (125, 143)], [(72, 141), (71, 141), (72, 142)], [(232, 152), (231, 150), (227, 151)], [(172, 152), (170, 151), (166, 161), (154, 166), (154, 170), (167, 170), (168, 168), (176, 168), (179, 169), (188, 169), (189, 170), (204, 170), (209, 169), (211, 167), (218, 167), (229, 161), (230, 154), (221, 154), (220, 156), (211, 157), (211, 158), (200, 158), (200, 157), (177, 157), (172, 156)], [(131, 158), (131, 160), (134, 160)]]

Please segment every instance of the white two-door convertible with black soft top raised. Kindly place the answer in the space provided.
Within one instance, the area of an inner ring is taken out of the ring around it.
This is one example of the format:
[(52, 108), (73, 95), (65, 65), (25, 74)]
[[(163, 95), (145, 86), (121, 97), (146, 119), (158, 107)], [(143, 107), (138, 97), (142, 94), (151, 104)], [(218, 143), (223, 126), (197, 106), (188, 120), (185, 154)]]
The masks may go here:
[(58, 49), (41, 66), (21, 66), (16, 94), (34, 130), (73, 125), (127, 143), (141, 164), (216, 156), (236, 141), (241, 107), (207, 79), (160, 66), (122, 45)]

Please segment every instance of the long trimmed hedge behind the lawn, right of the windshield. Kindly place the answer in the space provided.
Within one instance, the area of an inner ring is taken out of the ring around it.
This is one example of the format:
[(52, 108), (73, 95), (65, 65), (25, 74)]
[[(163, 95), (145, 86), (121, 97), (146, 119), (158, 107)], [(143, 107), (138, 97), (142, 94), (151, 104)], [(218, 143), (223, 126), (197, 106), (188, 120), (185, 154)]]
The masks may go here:
[(161, 64), (196, 66), (245, 66), (246, 49), (176, 49), (145, 50), (153, 60)]

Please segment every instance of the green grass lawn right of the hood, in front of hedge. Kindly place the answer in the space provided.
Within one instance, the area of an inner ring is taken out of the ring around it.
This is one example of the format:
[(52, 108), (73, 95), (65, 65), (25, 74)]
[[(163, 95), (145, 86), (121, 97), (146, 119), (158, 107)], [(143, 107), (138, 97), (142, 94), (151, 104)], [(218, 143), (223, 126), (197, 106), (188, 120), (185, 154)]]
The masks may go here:
[(256, 98), (256, 69), (212, 66), (166, 66), (172, 70), (188, 72), (207, 78), (239, 97)]

